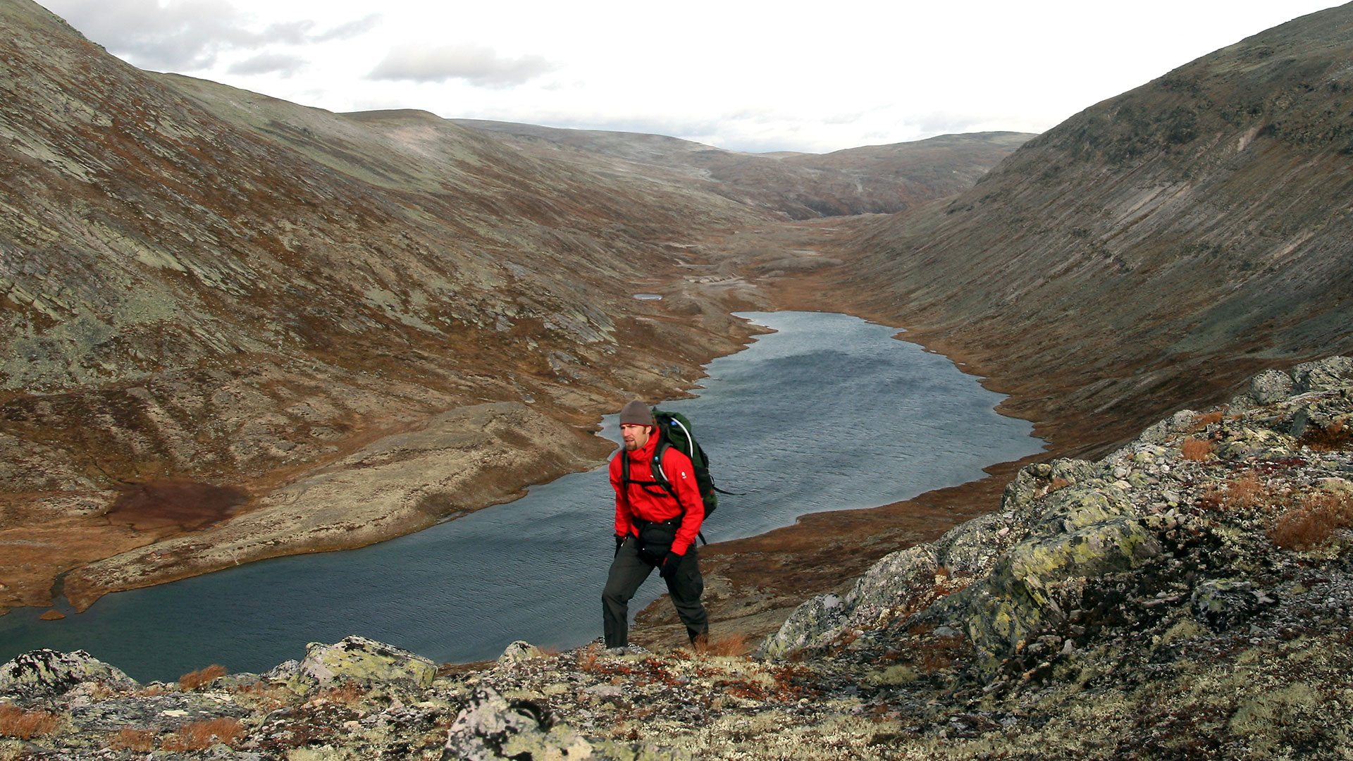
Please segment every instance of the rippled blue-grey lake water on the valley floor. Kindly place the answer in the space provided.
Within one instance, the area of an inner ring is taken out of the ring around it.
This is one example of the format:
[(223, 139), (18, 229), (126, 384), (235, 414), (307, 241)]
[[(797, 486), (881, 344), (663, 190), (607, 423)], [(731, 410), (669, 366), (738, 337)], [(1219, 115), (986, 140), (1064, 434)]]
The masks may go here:
[[(994, 412), (1000, 394), (893, 328), (829, 313), (741, 317), (777, 332), (712, 362), (695, 398), (660, 404), (691, 418), (720, 486), (746, 493), (720, 498), (710, 542), (911, 498), (1042, 450), (1030, 422)], [(616, 417), (602, 435), (618, 441)], [(0, 662), (83, 649), (145, 681), (210, 664), (262, 672), (349, 634), (440, 662), (495, 658), (514, 639), (572, 647), (601, 634), (613, 510), (599, 467), (360, 550), (108, 594), (58, 622), (19, 609), (0, 616)], [(653, 574), (630, 612), (662, 592)]]

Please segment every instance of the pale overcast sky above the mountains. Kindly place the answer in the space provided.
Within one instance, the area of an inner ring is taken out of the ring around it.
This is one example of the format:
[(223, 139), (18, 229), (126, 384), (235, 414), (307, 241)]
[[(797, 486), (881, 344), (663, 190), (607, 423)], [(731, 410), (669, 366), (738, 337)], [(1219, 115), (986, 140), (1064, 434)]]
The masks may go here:
[(110, 53), (330, 111), (824, 153), (1043, 131), (1327, 0), (39, 0)]

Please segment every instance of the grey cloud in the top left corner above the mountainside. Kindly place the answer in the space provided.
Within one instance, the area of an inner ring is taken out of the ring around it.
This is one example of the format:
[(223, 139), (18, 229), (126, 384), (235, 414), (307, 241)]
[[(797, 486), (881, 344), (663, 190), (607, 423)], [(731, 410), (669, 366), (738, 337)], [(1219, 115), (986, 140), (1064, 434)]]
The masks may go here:
[(250, 16), (229, 0), (179, 0), (164, 5), (158, 0), (47, 0), (46, 5), (85, 37), (137, 66), (180, 72), (210, 68), (229, 50), (348, 39), (380, 20), (373, 14), (313, 34), (317, 23), (308, 19), (275, 22), (254, 30)]

